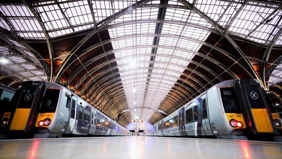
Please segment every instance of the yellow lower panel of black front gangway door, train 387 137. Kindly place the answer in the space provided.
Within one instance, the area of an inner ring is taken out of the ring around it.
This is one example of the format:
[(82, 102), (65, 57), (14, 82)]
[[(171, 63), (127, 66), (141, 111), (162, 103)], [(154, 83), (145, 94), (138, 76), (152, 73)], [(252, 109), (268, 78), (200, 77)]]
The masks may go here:
[(24, 130), (27, 125), (29, 113), (29, 108), (16, 109), (15, 115), (10, 126), (10, 130)]

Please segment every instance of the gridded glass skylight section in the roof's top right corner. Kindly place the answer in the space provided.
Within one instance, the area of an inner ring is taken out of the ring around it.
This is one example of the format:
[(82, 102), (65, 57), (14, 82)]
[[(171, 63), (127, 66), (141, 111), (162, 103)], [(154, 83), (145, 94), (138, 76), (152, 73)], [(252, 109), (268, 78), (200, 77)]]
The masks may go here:
[[(272, 7), (277, 8), (278, 6)], [(264, 5), (258, 5), (258, 3), (255, 2), (248, 2), (247, 5), (243, 7), (241, 12), (235, 18), (229, 30), (233, 34), (237, 34), (239, 36), (246, 35), (246, 37), (250, 40), (254, 40), (260, 43), (269, 42), (269, 40), (272, 40), (273, 34), (278, 31), (277, 26), (282, 25), (282, 21), (279, 22), (282, 10), (276, 11), (270, 17), (272, 18), (272, 20), (268, 23), (261, 24), (261, 22), (270, 14), (272, 14), (272, 12), (275, 10), (274, 8), (268, 8)], [(253, 29), (255, 29), (255, 27), (257, 27), (258, 25), (260, 25), (259, 28), (253, 31)], [(251, 33), (251, 31), (253, 32)]]

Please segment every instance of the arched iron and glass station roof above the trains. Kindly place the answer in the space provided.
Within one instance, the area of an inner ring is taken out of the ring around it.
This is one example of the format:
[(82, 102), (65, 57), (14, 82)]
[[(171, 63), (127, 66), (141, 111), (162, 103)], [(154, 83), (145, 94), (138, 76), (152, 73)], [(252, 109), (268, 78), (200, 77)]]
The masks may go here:
[(60, 83), (123, 126), (229, 79), (281, 95), (278, 0), (2, 0), (0, 14), (0, 83)]

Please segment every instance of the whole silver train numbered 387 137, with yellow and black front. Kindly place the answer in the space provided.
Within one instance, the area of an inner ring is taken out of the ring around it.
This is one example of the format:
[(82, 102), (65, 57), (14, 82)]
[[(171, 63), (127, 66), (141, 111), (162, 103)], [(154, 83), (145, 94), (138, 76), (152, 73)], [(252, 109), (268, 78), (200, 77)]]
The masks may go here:
[(26, 81), (17, 89), (1, 119), (5, 134), (131, 135), (131, 132), (57, 83)]

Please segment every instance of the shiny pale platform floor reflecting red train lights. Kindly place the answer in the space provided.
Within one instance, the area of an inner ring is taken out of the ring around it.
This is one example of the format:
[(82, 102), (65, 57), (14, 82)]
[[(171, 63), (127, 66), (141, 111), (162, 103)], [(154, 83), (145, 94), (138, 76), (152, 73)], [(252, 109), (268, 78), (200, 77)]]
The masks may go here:
[(0, 142), (0, 158), (282, 158), (282, 145), (152, 136)]

